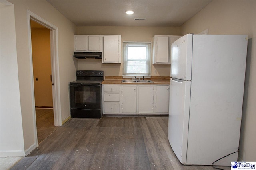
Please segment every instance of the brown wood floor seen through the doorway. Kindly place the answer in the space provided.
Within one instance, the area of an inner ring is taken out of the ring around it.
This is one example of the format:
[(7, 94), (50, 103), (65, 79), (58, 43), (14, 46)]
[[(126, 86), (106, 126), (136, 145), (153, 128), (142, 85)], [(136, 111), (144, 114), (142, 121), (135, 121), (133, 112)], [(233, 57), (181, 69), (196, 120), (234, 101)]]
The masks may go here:
[(57, 126), (54, 126), (53, 109), (36, 109), (38, 144), (51, 135), (57, 128)]

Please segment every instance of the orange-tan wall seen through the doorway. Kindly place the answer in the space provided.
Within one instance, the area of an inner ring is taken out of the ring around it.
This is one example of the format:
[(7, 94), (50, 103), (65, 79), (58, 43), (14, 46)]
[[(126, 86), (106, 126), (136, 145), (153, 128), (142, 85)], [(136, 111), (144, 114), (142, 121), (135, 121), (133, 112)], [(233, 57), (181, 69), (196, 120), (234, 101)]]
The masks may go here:
[(50, 30), (31, 28), (31, 41), (35, 104), (36, 106), (52, 107)]

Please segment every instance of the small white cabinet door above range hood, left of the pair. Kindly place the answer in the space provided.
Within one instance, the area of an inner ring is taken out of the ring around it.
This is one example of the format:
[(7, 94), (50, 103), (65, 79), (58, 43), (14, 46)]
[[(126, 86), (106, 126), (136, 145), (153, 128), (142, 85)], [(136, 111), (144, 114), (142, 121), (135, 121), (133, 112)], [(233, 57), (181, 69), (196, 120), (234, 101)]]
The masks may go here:
[(74, 35), (74, 51), (88, 51), (88, 36)]

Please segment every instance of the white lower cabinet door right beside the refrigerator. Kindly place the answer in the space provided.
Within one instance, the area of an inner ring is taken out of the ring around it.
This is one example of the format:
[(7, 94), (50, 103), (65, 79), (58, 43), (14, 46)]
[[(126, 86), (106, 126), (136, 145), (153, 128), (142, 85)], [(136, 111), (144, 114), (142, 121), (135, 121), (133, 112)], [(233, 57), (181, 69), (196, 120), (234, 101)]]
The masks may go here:
[(169, 112), (169, 85), (155, 85), (155, 114), (168, 114)]

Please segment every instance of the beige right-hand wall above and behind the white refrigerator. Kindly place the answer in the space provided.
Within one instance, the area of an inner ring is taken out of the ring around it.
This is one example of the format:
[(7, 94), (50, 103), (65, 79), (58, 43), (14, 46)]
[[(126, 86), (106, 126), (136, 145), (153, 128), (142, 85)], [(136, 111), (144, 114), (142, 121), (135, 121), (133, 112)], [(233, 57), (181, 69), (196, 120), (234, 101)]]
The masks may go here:
[(239, 159), (256, 160), (256, 1), (214, 0), (181, 26), (181, 33), (248, 35), (248, 55)]

